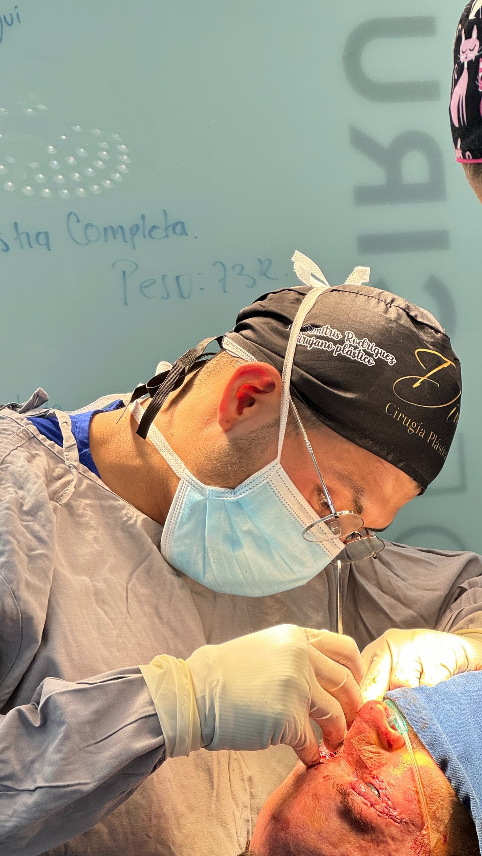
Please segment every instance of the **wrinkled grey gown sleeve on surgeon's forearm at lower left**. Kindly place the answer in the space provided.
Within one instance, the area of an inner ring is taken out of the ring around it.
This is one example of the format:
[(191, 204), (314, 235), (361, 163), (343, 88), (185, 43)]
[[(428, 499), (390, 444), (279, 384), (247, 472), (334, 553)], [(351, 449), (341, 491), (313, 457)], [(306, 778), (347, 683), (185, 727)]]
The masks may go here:
[(164, 761), (140, 670), (47, 678), (0, 716), (0, 856), (35, 856), (80, 835)]

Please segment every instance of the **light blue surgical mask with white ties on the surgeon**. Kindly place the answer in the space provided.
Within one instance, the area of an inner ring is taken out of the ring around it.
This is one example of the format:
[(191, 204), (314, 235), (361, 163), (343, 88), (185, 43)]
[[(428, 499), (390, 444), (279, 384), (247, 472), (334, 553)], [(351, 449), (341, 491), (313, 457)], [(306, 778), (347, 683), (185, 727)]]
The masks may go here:
[[(322, 291), (313, 288), (306, 295), (291, 330), (276, 461), (234, 490), (210, 487), (187, 470), (156, 425), (149, 429), (147, 436), (181, 479), (161, 552), (174, 568), (212, 591), (247, 597), (289, 591), (312, 580), (343, 549), (281, 465), (295, 348), (306, 313)], [(247, 358), (254, 360), (249, 354)], [(144, 413), (139, 401), (129, 407), (139, 423)], [(310, 543), (303, 532), (317, 521), (326, 540)]]

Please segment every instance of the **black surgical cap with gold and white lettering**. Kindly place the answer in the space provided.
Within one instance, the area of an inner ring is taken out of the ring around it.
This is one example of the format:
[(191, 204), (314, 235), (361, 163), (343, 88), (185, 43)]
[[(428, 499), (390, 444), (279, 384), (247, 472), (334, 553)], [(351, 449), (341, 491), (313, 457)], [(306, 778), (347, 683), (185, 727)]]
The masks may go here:
[[(224, 347), (231, 339), (283, 372), (309, 290), (260, 297), (240, 312)], [(442, 469), (460, 414), (461, 368), (443, 327), (419, 306), (378, 288), (330, 288), (306, 316), (291, 388), (324, 425), (423, 490)]]

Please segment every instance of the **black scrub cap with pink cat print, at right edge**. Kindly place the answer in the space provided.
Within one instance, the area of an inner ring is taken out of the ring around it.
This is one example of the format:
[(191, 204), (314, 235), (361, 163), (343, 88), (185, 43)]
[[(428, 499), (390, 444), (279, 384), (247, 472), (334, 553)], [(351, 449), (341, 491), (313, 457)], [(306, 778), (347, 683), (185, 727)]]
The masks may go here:
[(482, 0), (464, 9), (454, 43), (450, 125), (459, 163), (482, 163)]

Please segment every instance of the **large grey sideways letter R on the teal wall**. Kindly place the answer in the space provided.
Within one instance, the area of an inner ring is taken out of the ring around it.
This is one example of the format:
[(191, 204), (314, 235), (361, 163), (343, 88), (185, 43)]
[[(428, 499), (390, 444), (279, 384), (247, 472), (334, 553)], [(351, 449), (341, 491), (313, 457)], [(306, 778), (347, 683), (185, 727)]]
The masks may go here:
[[(355, 187), (355, 205), (400, 205), (403, 202), (440, 202), (446, 198), (443, 154), (437, 142), (421, 131), (407, 131), (396, 137), (390, 146), (380, 146), (377, 140), (350, 127), (350, 142), (354, 149), (384, 169), (386, 181), (369, 187)], [(428, 166), (428, 181), (403, 181), (403, 158), (410, 152), (420, 152)]]

